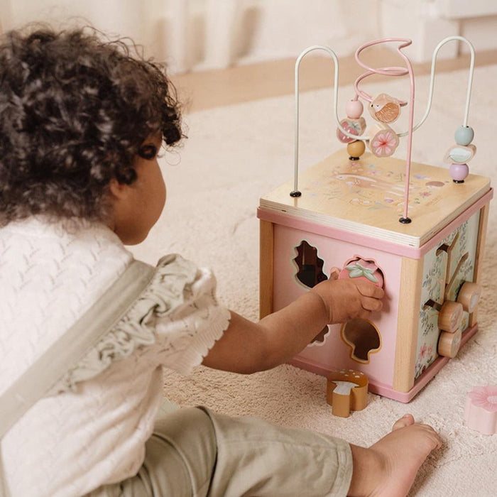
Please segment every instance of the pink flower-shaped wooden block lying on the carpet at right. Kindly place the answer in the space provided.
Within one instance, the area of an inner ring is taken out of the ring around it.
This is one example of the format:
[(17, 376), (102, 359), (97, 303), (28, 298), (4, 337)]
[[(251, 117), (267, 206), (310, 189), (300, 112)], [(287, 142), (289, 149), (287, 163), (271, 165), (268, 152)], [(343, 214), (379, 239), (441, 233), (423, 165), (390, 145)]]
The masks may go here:
[(476, 386), (466, 393), (464, 421), (484, 435), (497, 433), (497, 385)]

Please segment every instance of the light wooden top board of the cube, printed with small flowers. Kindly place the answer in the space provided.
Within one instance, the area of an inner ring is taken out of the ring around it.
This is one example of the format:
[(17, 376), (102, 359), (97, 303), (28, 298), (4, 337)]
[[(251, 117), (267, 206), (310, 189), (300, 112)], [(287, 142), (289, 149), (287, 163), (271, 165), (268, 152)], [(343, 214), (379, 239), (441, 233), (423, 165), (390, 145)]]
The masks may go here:
[(411, 163), (410, 224), (403, 216), (405, 159), (365, 153), (349, 160), (343, 149), (299, 175), (300, 197), (290, 197), (293, 179), (261, 197), (261, 209), (345, 231), (420, 247), (490, 190), (490, 180), (469, 175), (454, 183), (449, 168)]

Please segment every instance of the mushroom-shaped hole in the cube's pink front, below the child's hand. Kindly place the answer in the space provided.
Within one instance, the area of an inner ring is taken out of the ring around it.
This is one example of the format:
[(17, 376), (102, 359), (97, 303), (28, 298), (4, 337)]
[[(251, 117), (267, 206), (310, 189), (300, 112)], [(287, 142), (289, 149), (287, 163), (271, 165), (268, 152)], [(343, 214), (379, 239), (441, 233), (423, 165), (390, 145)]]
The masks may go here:
[(368, 320), (356, 317), (342, 325), (342, 339), (351, 349), (350, 357), (360, 363), (368, 363), (370, 354), (381, 349), (381, 335)]

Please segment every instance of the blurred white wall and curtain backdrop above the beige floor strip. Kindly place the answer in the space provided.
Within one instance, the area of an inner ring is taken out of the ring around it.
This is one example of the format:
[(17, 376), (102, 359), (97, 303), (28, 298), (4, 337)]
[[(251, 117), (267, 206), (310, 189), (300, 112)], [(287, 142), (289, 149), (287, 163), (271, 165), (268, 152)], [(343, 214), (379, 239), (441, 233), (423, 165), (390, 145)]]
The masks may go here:
[[(0, 21), (4, 30), (90, 23), (130, 36), (176, 72), (295, 58), (315, 44), (342, 57), (381, 36), (412, 38), (406, 52), (417, 62), (453, 34), (497, 48), (497, 0), (0, 0)], [(440, 56), (458, 50), (446, 45)]]

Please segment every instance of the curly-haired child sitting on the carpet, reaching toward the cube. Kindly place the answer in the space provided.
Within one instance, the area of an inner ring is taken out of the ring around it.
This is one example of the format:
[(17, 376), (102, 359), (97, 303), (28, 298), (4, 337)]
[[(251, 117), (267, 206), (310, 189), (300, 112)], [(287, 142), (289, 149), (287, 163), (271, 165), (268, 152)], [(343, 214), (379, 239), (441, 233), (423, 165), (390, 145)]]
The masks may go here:
[[(162, 68), (93, 32), (10, 32), (0, 46), (0, 394), (132, 261), (157, 221), (157, 153), (182, 138)], [(180, 220), (178, 220), (180, 222)], [(440, 446), (411, 415), (368, 449), (185, 408), (154, 422), (162, 368), (252, 373), (383, 290), (333, 275), (258, 323), (217, 303), (212, 273), (160, 259), (146, 290), (1, 440), (9, 495), (403, 496)], [(107, 300), (106, 300), (107, 299)], [(99, 322), (100, 317), (94, 316)], [(102, 326), (104, 326), (102, 324)]]

